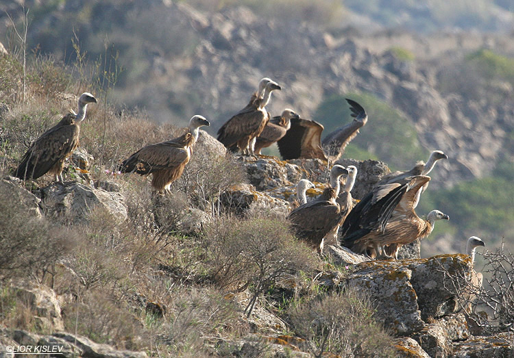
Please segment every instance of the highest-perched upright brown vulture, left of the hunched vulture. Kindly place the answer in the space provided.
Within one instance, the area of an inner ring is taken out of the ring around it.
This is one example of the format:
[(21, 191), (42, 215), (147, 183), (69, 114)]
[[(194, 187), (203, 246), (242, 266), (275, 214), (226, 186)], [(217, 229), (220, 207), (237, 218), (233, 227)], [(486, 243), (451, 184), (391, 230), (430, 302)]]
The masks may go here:
[(265, 106), (274, 90), (280, 90), (276, 82), (269, 78), (261, 79), (257, 93), (252, 96), (247, 106), (219, 129), (218, 140), (226, 148), (236, 145), (244, 155), (254, 155), (256, 138), (269, 121)]

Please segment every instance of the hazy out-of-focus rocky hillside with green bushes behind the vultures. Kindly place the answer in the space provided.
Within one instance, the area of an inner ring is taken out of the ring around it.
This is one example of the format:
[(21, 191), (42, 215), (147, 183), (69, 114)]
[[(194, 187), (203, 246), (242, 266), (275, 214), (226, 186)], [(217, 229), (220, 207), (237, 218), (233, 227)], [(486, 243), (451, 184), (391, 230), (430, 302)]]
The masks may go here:
[(268, 107), (273, 115), (291, 107), (328, 132), (350, 120), (344, 98), (355, 99), (369, 123), (345, 156), (380, 159), (395, 170), (434, 149), (450, 157), (417, 210), (437, 208), (451, 218), (424, 255), (463, 251), (469, 235), (488, 246), (512, 241), (511, 1), (21, 3), (0, 4), (8, 51), (22, 54), (14, 28), (23, 29), (28, 10), (27, 61), (51, 56), (71, 72), (106, 71), (108, 101), (122, 116), (139, 107), (159, 123), (185, 125), (203, 114), (215, 135), (258, 80), (271, 77), (283, 88)]

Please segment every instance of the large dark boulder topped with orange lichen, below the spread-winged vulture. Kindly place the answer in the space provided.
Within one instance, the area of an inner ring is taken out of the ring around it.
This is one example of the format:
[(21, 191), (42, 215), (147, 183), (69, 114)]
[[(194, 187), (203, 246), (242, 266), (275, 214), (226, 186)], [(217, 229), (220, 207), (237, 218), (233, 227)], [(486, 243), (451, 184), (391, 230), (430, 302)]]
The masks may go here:
[[(469, 280), (471, 270), (471, 259), (461, 254), (363, 261), (354, 266), (345, 283), (368, 292), (376, 302), (377, 319), (386, 327), (397, 335), (411, 335), (424, 329), (428, 320), (458, 311), (456, 297), (465, 290), (465, 283), (458, 280)], [(456, 339), (466, 335), (467, 331), (454, 334)]]

